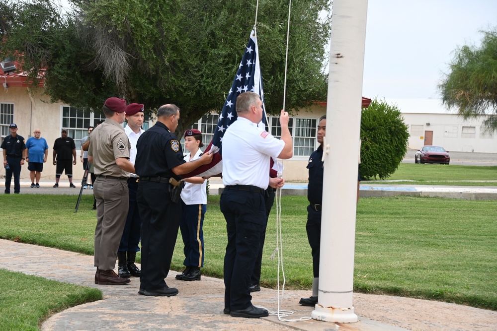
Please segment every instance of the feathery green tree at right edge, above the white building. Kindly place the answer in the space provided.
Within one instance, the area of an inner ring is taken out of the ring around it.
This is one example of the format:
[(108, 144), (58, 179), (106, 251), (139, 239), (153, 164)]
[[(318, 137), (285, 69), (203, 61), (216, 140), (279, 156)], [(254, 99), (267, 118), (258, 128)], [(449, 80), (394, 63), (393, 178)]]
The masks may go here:
[(497, 132), (497, 29), (483, 31), (480, 47), (458, 48), (438, 88), (448, 109), (464, 119), (488, 115), (488, 132)]

